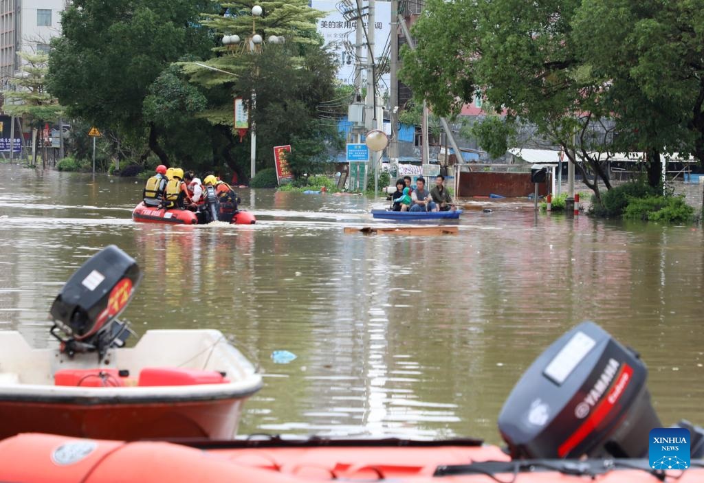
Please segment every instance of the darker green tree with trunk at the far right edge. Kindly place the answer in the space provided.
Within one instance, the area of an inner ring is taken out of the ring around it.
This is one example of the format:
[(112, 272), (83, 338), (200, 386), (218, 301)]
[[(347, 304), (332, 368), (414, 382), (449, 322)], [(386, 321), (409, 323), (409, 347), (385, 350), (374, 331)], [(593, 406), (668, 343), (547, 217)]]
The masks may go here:
[(616, 121), (617, 148), (648, 153), (651, 186), (661, 183), (660, 153), (693, 153), (704, 139), (703, 8), (700, 0), (586, 0), (573, 21), (584, 70)]

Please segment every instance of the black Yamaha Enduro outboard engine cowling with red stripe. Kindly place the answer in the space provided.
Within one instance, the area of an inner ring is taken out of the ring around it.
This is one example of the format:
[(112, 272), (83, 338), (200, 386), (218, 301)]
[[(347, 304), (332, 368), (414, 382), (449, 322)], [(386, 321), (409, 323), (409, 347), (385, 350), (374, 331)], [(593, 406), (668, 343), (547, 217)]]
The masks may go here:
[(514, 458), (641, 458), (661, 427), (637, 354), (595, 323), (554, 342), (524, 373), (498, 417)]

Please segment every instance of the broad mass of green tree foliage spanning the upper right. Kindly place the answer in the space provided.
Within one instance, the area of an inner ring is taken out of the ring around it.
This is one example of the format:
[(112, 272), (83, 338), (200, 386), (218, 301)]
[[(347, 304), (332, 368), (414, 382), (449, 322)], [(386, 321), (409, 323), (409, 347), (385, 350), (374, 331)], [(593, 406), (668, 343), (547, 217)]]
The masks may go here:
[(660, 153), (704, 139), (703, 11), (704, 0), (429, 0), (401, 75), (440, 115), (482, 91), (579, 162), (600, 200), (613, 152), (646, 151), (655, 185)]

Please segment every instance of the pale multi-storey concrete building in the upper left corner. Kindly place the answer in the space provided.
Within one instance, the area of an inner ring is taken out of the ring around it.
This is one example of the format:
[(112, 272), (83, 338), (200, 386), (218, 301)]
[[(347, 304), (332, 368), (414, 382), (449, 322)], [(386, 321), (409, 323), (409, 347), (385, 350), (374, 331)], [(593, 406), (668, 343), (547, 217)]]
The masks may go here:
[(68, 0), (0, 0), (0, 82), (3, 90), (21, 67), (19, 52), (49, 51), (61, 34)]

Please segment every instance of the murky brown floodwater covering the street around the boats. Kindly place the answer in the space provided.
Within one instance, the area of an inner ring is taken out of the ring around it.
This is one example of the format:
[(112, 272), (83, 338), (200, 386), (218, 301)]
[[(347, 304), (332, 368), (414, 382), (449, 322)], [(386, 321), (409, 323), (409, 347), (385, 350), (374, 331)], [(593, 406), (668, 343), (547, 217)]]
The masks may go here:
[(499, 442), (522, 371), (586, 319), (639, 350), (663, 423), (704, 423), (699, 227), (536, 219), (508, 202), (466, 212), (459, 236), (346, 235), (375, 223), (367, 200), (246, 189), (255, 226), (160, 226), (130, 218), (141, 193), (0, 165), (0, 330), (49, 344), (56, 292), (115, 243), (144, 270), (125, 311), (137, 333), (218, 328), (260, 363), (241, 433)]

